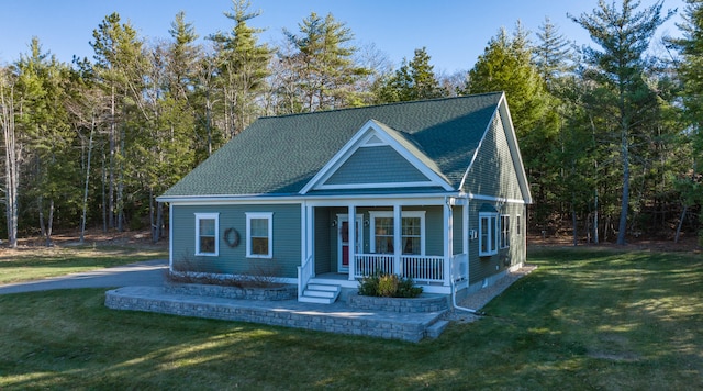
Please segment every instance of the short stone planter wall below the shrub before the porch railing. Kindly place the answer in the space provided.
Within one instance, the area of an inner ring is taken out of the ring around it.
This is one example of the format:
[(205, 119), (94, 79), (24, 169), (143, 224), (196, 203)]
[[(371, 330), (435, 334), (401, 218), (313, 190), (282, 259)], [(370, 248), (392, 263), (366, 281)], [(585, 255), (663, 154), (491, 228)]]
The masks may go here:
[(375, 298), (349, 294), (347, 304), (355, 309), (389, 312), (437, 312), (449, 308), (446, 295), (405, 298)]

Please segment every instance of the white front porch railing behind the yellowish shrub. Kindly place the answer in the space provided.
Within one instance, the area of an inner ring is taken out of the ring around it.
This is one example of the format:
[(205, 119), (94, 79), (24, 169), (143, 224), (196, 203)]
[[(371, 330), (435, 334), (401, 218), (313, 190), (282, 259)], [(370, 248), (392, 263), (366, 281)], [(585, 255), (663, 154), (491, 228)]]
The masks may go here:
[(357, 254), (354, 277), (362, 278), (380, 271), (412, 277), (419, 282), (444, 282), (446, 267), (443, 256), (402, 255), (400, 270), (395, 270), (392, 254)]

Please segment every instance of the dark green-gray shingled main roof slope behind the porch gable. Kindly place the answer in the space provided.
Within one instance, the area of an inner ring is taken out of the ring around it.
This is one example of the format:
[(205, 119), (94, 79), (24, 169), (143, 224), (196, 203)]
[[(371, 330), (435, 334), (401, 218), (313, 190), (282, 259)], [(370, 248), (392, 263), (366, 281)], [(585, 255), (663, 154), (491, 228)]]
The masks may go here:
[(414, 144), (456, 189), (501, 97), (495, 92), (261, 118), (161, 197), (298, 193), (369, 120)]

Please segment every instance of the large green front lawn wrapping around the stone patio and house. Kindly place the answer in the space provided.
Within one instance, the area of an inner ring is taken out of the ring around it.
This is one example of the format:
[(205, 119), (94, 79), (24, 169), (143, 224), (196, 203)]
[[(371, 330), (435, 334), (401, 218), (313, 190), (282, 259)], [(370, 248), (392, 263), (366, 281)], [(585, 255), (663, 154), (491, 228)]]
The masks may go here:
[(0, 389), (703, 388), (703, 259), (532, 252), (539, 266), (410, 344), (112, 311), (103, 290), (0, 295)]

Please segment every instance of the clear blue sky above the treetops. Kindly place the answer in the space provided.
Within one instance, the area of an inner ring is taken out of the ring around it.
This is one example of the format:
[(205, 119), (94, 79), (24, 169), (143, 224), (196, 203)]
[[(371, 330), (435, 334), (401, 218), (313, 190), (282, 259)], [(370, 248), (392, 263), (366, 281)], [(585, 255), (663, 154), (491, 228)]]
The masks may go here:
[[(612, 0), (606, 0), (612, 1)], [(617, 1), (620, 3), (620, 0)], [(655, 0), (641, 0), (643, 7)], [(250, 21), (266, 29), (263, 42), (282, 41), (282, 29), (298, 31), (298, 23), (316, 12), (332, 13), (345, 22), (358, 46), (373, 43), (398, 65), (413, 51), (426, 47), (436, 71), (453, 74), (470, 69), (488, 41), (501, 26), (512, 31), (515, 22), (536, 32), (549, 16), (560, 32), (579, 45), (591, 44), (588, 34), (567, 18), (596, 7), (598, 0), (252, 0), (261, 15)], [(683, 0), (665, 0), (665, 9), (683, 10)], [(92, 58), (92, 31), (105, 15), (118, 12), (130, 21), (140, 36), (168, 38), (177, 12), (185, 11), (197, 33), (204, 37), (228, 31), (232, 23), (223, 15), (231, 0), (22, 0), (4, 1), (0, 12), (0, 64), (8, 64), (27, 52), (32, 36), (44, 51), (62, 62), (74, 55)], [(676, 15), (659, 35), (678, 35)], [(533, 34), (534, 37), (534, 34)]]

